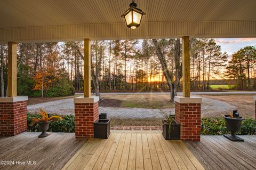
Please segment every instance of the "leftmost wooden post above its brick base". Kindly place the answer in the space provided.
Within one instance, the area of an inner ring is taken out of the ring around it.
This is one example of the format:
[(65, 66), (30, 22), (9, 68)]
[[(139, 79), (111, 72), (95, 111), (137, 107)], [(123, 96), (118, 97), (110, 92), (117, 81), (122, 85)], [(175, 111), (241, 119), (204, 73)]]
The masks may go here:
[(7, 96), (17, 96), (17, 43), (8, 42)]

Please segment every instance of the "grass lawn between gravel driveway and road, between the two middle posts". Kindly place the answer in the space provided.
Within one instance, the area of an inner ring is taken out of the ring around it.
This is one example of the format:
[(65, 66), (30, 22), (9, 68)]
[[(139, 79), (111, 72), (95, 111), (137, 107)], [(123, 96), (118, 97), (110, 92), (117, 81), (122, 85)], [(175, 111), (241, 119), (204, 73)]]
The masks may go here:
[(102, 94), (101, 98), (121, 100), (120, 106), (124, 108), (174, 108), (170, 95), (166, 94)]

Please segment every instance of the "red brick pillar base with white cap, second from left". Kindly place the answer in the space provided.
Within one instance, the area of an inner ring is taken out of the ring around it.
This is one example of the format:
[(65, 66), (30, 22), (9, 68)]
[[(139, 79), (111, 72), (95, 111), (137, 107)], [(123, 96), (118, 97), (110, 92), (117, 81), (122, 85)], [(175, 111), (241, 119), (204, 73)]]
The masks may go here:
[(76, 137), (93, 137), (93, 123), (99, 119), (99, 97), (75, 98)]

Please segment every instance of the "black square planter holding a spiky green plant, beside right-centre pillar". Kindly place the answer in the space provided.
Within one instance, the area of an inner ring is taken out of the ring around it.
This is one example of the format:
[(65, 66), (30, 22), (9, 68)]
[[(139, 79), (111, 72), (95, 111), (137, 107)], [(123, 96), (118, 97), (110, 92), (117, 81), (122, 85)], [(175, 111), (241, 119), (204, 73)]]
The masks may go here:
[(161, 114), (164, 117), (164, 120), (162, 120), (164, 139), (180, 139), (180, 124), (175, 120), (175, 115), (162, 110)]

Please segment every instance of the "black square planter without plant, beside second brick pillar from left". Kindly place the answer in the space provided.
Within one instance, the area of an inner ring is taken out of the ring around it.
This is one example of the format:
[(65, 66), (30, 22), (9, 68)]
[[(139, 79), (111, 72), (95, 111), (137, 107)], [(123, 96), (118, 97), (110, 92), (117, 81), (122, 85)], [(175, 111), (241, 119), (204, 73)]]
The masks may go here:
[(110, 134), (110, 120), (99, 119), (93, 124), (94, 138), (107, 139)]

